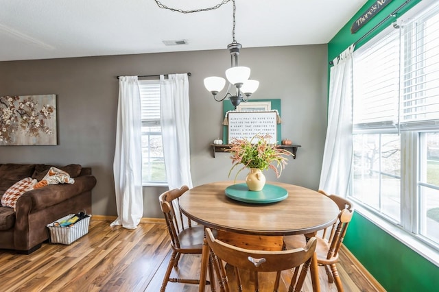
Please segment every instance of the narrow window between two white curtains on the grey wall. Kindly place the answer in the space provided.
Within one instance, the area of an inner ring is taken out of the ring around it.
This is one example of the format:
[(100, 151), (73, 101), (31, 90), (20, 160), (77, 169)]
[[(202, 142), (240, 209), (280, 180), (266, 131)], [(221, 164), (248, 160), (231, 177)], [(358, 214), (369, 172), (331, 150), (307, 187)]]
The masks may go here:
[(167, 185), (160, 122), (159, 80), (139, 80), (142, 110), (142, 184)]

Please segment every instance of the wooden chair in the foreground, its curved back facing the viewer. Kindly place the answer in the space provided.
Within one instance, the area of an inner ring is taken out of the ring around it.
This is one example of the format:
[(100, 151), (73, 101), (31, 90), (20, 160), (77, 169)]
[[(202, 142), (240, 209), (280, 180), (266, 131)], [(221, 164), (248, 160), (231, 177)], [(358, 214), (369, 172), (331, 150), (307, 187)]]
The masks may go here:
[[(281, 280), (281, 271), (289, 270), (305, 264), (300, 272), (297, 284), (297, 274), (292, 277), (292, 280), (289, 284), (288, 291), (300, 291), (300, 289), (302, 289), (305, 277), (307, 276), (311, 259), (313, 258), (316, 250), (315, 238), (311, 238), (305, 247), (299, 247), (294, 250), (247, 250), (241, 247), (235, 247), (234, 245), (229, 245), (228, 243), (219, 241), (219, 239), (215, 239), (215, 236), (209, 228), (206, 228), (206, 241), (211, 248), (211, 258), (213, 258), (213, 264), (219, 280), (219, 287), (221, 291), (227, 292), (242, 291), (239, 269), (245, 269), (250, 271), (250, 273), (254, 273), (254, 291), (259, 291), (259, 272), (277, 272), (273, 291), (278, 291), (279, 282)], [(224, 268), (222, 261), (230, 266), (233, 266), (235, 269), (237, 290), (230, 288), (226, 269)], [(317, 269), (316, 260), (314, 260), (313, 267), (311, 267), (311, 269)]]

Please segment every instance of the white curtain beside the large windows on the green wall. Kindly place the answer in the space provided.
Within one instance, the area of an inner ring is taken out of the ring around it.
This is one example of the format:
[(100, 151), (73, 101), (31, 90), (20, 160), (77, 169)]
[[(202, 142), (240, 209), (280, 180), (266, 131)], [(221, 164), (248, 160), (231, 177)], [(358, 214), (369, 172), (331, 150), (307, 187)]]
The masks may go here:
[(353, 51), (348, 47), (333, 60), (329, 82), (327, 138), (319, 189), (345, 197), (352, 171)]

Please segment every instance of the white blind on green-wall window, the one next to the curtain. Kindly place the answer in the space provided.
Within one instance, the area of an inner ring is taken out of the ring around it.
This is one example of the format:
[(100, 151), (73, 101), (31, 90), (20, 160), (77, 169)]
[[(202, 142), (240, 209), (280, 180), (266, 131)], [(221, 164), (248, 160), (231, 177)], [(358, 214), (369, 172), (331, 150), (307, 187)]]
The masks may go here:
[(399, 120), (399, 29), (354, 52), (354, 130), (396, 129)]

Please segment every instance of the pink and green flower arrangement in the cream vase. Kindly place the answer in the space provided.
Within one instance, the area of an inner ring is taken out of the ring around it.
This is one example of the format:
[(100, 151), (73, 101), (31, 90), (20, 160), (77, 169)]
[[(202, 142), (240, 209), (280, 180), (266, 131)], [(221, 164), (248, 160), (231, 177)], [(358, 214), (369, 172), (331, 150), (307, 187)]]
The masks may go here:
[[(253, 136), (250, 140), (233, 138), (230, 148), (226, 149), (227, 152), (232, 154), (230, 158), (233, 164), (228, 176), (230, 177), (230, 173), (237, 165), (244, 166), (236, 173), (235, 180), (237, 175), (246, 168), (261, 169), (261, 171), (272, 169), (277, 177), (281, 176), (285, 165), (287, 165), (288, 158), (285, 156), (294, 155), (285, 149), (279, 148), (278, 145), (270, 143), (270, 138), (272, 138), (270, 135), (260, 134)], [(257, 140), (257, 143), (253, 143), (254, 140)]]

